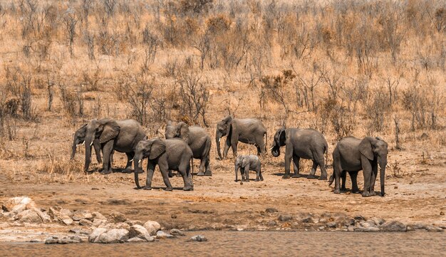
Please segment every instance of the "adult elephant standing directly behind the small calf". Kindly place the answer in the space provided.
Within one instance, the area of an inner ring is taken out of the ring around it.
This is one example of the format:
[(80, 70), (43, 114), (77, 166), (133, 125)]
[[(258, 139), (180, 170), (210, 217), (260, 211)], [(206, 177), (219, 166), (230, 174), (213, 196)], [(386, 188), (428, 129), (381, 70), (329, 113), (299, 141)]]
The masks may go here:
[[(223, 157), (220, 152), (220, 139), (226, 136), (226, 144), (224, 145)], [(217, 143), (217, 152), (219, 159), (226, 159), (229, 147), (232, 147), (234, 157), (237, 157), (237, 144), (244, 142), (245, 144), (255, 145), (257, 154), (264, 156), (266, 154), (267, 132), (266, 128), (257, 119), (236, 119), (231, 116), (225, 117), (217, 123), (215, 132), (215, 142)]]

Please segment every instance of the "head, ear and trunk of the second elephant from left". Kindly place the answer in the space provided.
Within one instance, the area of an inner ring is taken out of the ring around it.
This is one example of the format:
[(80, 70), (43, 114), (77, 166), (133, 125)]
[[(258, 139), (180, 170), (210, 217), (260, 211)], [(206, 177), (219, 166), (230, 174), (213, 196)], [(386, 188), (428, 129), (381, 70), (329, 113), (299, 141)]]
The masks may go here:
[(114, 140), (120, 132), (120, 127), (115, 120), (102, 119), (88, 122), (85, 131), (85, 171), (90, 166), (91, 145), (98, 139), (100, 144)]

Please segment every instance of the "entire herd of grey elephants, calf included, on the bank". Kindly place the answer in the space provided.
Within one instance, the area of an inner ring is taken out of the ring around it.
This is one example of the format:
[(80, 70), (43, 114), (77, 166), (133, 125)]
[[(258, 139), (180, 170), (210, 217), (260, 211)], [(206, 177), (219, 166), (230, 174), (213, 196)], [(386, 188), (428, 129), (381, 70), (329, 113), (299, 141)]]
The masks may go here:
[[(231, 116), (217, 122), (215, 141), (219, 159), (225, 159), (229, 148), (232, 148), (234, 157), (237, 157), (237, 145), (239, 142), (254, 145), (257, 155), (266, 155), (267, 145), (266, 127), (260, 120), (254, 118), (237, 119)], [(223, 155), (220, 150), (220, 140), (226, 137)], [(88, 171), (91, 162), (91, 147), (93, 146), (96, 158), (102, 163), (102, 174), (112, 172), (113, 153), (125, 152), (127, 164), (124, 173), (135, 174), (135, 184), (140, 187), (138, 174), (143, 173), (141, 162), (147, 159), (147, 179), (144, 189), (152, 188), (152, 177), (155, 167), (158, 166), (165, 182), (167, 191), (172, 190), (169, 177), (172, 170), (178, 172), (184, 181), (183, 190), (194, 189), (192, 182), (193, 159), (200, 159), (198, 176), (212, 176), (209, 165), (209, 152), (212, 141), (204, 128), (189, 126), (185, 122), (172, 124), (167, 122), (165, 139), (148, 139), (142, 126), (136, 120), (90, 120), (79, 128), (73, 138), (71, 159), (76, 154), (78, 145), (85, 145), (85, 172)], [(295, 127), (281, 127), (274, 134), (274, 142), (270, 148), (274, 157), (279, 157), (281, 147), (285, 147), (285, 174), (284, 179), (290, 178), (291, 160), (293, 163), (293, 178), (301, 177), (299, 160), (311, 159), (313, 165), (308, 179), (327, 179), (326, 157), (328, 144), (317, 130), (299, 129)], [(102, 152), (102, 159), (101, 159)], [(335, 182), (334, 193), (339, 194), (346, 190), (346, 173), (351, 177), (352, 192), (358, 193), (357, 175), (363, 170), (364, 188), (363, 196), (375, 195), (375, 180), (378, 177), (378, 165), (380, 167), (380, 195), (384, 196), (385, 166), (387, 165), (388, 145), (380, 137), (344, 137), (339, 140), (333, 150), (333, 174), (329, 183)], [(325, 158), (324, 158), (325, 157)], [(134, 171), (132, 170), (132, 164)], [(263, 180), (261, 174), (261, 161), (254, 154), (239, 156), (235, 159), (235, 175), (237, 181), (237, 169), (246, 167), (242, 172), (242, 180), (249, 182), (249, 170), (256, 171), (256, 181)], [(321, 176), (316, 177), (316, 169), (321, 169)], [(192, 170), (191, 170), (192, 169)], [(342, 183), (342, 185), (341, 185)]]

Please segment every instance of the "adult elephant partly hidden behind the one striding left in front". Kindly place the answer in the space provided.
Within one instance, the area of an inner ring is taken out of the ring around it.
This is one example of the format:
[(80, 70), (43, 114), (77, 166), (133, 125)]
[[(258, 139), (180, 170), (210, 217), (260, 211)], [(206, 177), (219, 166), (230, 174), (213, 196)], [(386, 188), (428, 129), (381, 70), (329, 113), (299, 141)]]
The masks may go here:
[[(187, 142), (195, 159), (200, 159), (198, 176), (212, 176), (209, 167), (209, 152), (211, 151), (211, 137), (204, 128), (199, 126), (189, 126), (185, 122), (178, 122), (173, 125), (167, 122), (165, 130), (166, 139), (179, 137)], [(170, 172), (171, 174), (171, 172)], [(172, 177), (171, 175), (169, 177)]]

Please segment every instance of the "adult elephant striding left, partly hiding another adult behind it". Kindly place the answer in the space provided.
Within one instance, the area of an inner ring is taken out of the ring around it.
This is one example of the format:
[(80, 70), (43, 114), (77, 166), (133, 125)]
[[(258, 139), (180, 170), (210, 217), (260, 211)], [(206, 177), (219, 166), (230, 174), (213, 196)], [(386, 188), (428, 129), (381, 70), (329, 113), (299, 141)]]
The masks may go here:
[[(141, 169), (142, 159), (147, 158), (147, 179), (144, 189), (152, 189), (152, 177), (155, 167), (160, 167), (162, 179), (166, 185), (166, 191), (172, 191), (172, 184), (170, 184), (168, 170), (177, 170), (185, 183), (183, 190), (194, 190), (192, 183), (192, 174), (190, 172), (193, 166), (192, 150), (184, 140), (173, 138), (170, 140), (162, 140), (154, 138), (151, 140), (142, 140), (138, 142), (135, 148), (135, 184), (140, 189), (140, 182), (138, 179), (138, 170)], [(192, 162), (192, 164), (191, 164)], [(193, 169), (193, 168), (192, 168)]]

